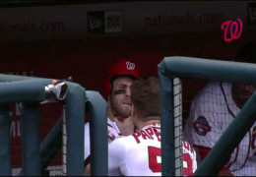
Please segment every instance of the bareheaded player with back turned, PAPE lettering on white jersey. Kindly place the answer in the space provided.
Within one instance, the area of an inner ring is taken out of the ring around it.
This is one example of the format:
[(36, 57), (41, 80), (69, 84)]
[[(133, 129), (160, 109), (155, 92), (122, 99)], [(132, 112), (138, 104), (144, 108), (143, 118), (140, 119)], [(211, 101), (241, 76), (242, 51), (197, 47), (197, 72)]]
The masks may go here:
[[(138, 79), (132, 84), (131, 117), (137, 131), (109, 144), (109, 176), (161, 175), (159, 93), (157, 78)], [(192, 175), (196, 168), (196, 153), (183, 142), (183, 174)]]

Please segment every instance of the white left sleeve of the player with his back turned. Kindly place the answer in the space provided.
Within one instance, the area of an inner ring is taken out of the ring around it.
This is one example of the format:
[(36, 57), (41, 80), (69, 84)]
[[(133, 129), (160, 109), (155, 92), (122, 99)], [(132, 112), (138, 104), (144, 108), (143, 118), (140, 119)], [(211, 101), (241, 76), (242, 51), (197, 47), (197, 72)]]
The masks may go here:
[(117, 139), (108, 145), (108, 175), (124, 175), (120, 172), (120, 166), (125, 162), (126, 150), (122, 145), (123, 138)]

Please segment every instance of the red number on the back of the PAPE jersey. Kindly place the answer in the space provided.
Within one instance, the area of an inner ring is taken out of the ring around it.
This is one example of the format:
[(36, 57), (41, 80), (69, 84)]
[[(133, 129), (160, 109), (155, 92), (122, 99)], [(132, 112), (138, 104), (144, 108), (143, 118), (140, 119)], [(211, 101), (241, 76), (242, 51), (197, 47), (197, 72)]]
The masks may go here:
[[(153, 172), (161, 172), (161, 150), (149, 147), (149, 166)], [(183, 153), (183, 175), (193, 175), (193, 161), (188, 153)]]

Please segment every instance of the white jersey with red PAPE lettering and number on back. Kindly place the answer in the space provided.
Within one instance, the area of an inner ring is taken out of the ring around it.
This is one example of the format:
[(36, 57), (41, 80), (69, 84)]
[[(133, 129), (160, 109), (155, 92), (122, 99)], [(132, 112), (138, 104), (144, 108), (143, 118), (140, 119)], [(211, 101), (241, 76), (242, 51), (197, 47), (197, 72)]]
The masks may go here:
[[(197, 168), (196, 153), (183, 144), (184, 174)], [(192, 168), (192, 169), (191, 169)], [(160, 124), (151, 124), (131, 136), (116, 139), (108, 146), (109, 176), (160, 176)]]

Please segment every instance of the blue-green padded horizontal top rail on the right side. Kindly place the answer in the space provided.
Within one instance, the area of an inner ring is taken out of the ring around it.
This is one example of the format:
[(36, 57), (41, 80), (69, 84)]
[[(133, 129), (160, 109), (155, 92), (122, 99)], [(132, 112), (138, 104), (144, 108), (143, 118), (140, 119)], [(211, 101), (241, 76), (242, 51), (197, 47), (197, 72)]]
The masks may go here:
[(256, 64), (194, 57), (164, 57), (159, 67), (166, 75), (178, 78), (255, 84)]

